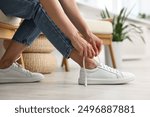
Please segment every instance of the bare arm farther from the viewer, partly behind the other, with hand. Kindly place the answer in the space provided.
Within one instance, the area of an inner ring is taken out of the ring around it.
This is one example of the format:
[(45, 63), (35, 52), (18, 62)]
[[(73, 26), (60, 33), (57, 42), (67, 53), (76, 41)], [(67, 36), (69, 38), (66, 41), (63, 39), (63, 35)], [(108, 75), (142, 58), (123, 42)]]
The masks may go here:
[(71, 22), (80, 31), (84, 38), (92, 44), (95, 52), (98, 54), (100, 52), (102, 42), (90, 31), (89, 27), (80, 15), (76, 0), (59, 0), (59, 2)]

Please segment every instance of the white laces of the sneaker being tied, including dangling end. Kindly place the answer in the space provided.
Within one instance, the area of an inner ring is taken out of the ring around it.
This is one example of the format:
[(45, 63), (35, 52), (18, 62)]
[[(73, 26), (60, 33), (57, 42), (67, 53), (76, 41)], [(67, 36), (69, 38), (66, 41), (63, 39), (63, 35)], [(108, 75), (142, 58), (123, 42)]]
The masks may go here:
[[(117, 69), (113, 69), (113, 68), (111, 68), (111, 67), (109, 67), (109, 66), (107, 66), (107, 65), (105, 65), (105, 64), (103, 64), (103, 63), (101, 63), (100, 62), (100, 57), (99, 56), (97, 56), (97, 58), (98, 58), (98, 61), (96, 61), (95, 59), (95, 62), (96, 62), (96, 64), (97, 64), (97, 67), (98, 68), (103, 68), (103, 69), (105, 69), (106, 71), (110, 71), (110, 72), (113, 72), (113, 73), (116, 73), (116, 74), (119, 74), (120, 72), (117, 70)], [(86, 73), (86, 68), (85, 68), (85, 56), (83, 57), (83, 68), (84, 68), (84, 76), (85, 76), (85, 78), (84, 78), (84, 85), (85, 86), (87, 86), (87, 73)]]

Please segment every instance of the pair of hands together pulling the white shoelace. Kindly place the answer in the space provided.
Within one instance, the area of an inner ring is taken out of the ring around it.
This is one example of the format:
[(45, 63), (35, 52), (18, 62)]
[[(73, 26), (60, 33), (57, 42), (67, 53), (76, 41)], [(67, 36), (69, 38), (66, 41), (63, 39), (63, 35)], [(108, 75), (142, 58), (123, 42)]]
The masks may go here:
[(79, 33), (71, 39), (74, 48), (81, 56), (93, 58), (101, 51), (102, 40), (95, 36), (93, 33), (84, 35), (82, 38)]

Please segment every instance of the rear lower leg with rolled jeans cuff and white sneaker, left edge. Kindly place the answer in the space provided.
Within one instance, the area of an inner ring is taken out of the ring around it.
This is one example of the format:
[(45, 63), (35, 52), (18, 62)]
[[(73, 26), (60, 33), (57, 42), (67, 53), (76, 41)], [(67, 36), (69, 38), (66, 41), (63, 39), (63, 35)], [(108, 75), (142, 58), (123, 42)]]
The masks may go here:
[(0, 83), (37, 82), (44, 78), (40, 73), (30, 72), (13, 63), (39, 34), (40, 30), (32, 19), (23, 21), (0, 60)]

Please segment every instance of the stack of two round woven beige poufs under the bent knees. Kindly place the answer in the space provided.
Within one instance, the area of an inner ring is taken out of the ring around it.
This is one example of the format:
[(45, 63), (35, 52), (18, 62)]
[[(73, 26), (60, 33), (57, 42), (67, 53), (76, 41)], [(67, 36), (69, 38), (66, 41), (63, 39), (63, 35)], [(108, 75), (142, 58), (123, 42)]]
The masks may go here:
[(23, 52), (25, 68), (40, 73), (52, 73), (56, 69), (56, 58), (52, 54), (54, 46), (41, 34)]

